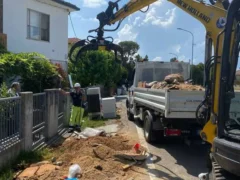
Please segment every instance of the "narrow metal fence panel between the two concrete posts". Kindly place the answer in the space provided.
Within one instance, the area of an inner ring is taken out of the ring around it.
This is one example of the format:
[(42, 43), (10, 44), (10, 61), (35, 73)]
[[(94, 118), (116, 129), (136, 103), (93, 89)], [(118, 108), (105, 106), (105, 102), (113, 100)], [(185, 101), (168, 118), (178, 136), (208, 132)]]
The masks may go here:
[(33, 148), (45, 141), (46, 134), (46, 93), (33, 94)]

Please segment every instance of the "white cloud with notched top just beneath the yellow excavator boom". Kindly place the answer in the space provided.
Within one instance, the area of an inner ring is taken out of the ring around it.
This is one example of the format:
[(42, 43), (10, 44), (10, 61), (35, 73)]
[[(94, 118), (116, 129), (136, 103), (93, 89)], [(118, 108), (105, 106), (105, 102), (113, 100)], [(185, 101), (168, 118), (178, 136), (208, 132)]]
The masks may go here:
[(173, 21), (175, 19), (175, 16), (176, 16), (175, 12), (176, 12), (176, 8), (169, 9), (165, 13), (164, 17), (159, 17), (157, 16), (156, 8), (153, 7), (147, 12), (145, 19), (142, 22), (142, 25), (150, 23), (152, 25), (161, 26), (161, 27), (170, 26), (171, 24), (173, 24)]

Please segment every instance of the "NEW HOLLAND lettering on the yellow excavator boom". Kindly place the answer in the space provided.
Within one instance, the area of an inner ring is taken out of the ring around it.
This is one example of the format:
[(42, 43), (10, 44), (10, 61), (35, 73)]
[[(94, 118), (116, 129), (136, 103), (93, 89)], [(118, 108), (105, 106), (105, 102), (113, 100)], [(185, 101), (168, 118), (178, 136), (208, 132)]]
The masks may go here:
[(183, 7), (184, 9), (187, 9), (191, 14), (199, 17), (200, 19), (202, 19), (203, 21), (205, 21), (206, 23), (209, 23), (211, 21), (211, 18), (208, 17), (207, 15), (199, 12), (197, 9), (193, 8), (192, 6), (188, 5), (187, 3), (185, 3), (183, 0), (177, 0), (177, 3)]

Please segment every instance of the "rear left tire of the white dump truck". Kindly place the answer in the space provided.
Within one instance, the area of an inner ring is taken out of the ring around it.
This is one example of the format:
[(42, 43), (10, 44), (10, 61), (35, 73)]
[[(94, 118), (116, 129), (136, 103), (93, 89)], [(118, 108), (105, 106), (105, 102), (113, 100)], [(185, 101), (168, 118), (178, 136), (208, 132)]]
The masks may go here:
[(149, 111), (146, 111), (144, 117), (144, 138), (148, 143), (153, 143), (154, 139), (154, 131), (153, 131), (153, 117)]

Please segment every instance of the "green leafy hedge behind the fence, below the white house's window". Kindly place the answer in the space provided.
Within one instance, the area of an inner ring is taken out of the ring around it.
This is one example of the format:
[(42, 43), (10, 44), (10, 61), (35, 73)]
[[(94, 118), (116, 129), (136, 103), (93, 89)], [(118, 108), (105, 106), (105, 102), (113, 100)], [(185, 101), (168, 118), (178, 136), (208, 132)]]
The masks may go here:
[(56, 88), (56, 67), (38, 53), (0, 54), (0, 79), (20, 77), (22, 91), (42, 92)]

